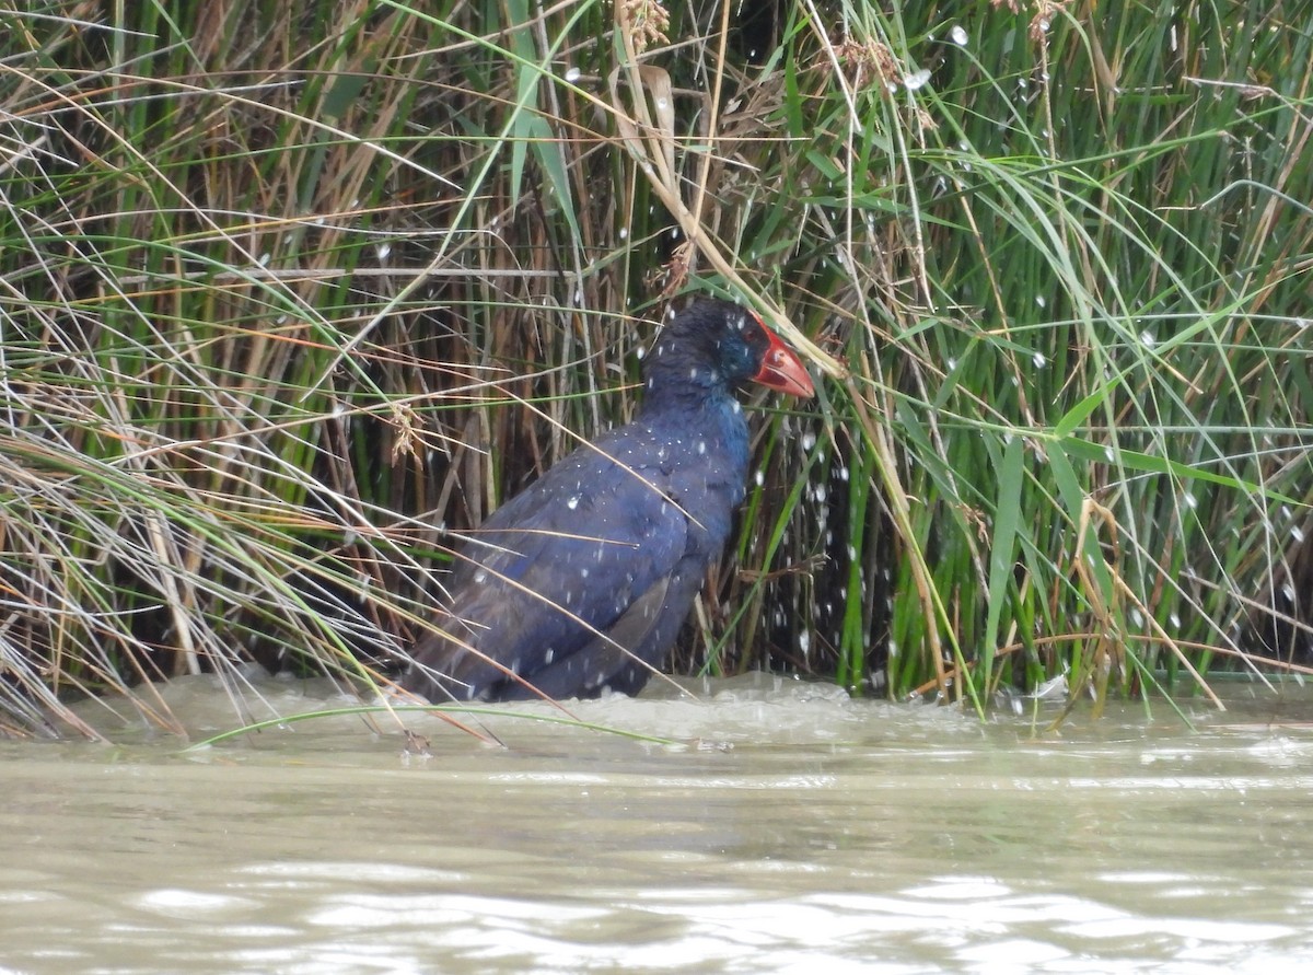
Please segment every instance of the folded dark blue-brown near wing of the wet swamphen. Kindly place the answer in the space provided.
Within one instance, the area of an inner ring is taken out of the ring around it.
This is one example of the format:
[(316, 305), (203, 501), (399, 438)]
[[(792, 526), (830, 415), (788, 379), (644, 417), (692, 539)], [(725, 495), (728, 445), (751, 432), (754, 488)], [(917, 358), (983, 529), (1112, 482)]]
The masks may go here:
[(414, 653), (431, 675), (445, 675), (440, 686), (452, 696), (515, 683), (512, 673), (532, 683), (617, 620), (625, 622), (613, 639), (641, 643), (645, 618), (626, 610), (660, 602), (684, 556), (688, 519), (663, 493), (656, 449), (633, 438), (597, 448), (628, 469), (584, 447), (494, 512), (467, 547), (444, 633)]

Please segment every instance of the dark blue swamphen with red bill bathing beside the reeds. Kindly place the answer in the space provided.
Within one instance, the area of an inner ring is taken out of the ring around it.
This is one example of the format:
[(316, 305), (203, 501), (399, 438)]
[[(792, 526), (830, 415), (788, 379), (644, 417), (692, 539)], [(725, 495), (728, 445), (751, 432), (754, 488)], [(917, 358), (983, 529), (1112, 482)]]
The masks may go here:
[(637, 694), (725, 544), (747, 477), (734, 386), (815, 392), (744, 307), (701, 300), (643, 360), (633, 423), (599, 436), (498, 509), (452, 574), (441, 632), (404, 687), (433, 702)]

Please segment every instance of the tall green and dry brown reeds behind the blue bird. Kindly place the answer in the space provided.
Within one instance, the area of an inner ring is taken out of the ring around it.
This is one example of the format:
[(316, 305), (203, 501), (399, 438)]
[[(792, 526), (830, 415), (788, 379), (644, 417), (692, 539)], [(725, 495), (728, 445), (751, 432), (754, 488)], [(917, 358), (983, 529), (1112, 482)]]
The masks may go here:
[(760, 411), (678, 669), (983, 707), (1306, 653), (1313, 4), (0, 21), (7, 731), (386, 685), (692, 290), (831, 378)]

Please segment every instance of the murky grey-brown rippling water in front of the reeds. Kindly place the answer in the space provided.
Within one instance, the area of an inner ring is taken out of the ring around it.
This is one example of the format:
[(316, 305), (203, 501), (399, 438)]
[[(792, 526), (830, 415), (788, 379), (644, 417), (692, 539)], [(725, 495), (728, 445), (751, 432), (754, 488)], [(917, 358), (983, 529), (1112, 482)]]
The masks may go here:
[(1313, 702), (1238, 704), (1036, 737), (746, 681), (575, 708), (679, 746), (512, 715), (506, 748), (416, 719), (427, 758), (357, 719), (3, 745), (0, 972), (1292, 970)]

